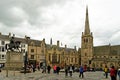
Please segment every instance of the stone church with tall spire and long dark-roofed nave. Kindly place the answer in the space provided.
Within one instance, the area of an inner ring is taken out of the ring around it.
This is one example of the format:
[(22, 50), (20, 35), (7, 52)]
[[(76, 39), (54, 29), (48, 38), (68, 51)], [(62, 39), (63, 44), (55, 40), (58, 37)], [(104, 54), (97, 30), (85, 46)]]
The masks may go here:
[(120, 67), (120, 45), (94, 46), (94, 37), (90, 31), (88, 7), (86, 8), (85, 29), (82, 32), (79, 49), (81, 65), (91, 68)]

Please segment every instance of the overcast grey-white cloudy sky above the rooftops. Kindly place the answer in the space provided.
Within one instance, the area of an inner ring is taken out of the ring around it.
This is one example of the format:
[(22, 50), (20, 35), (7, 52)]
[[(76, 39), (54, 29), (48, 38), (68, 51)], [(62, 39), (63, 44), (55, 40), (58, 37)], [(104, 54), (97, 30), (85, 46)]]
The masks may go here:
[(120, 0), (0, 0), (0, 32), (81, 47), (86, 5), (94, 46), (120, 45)]

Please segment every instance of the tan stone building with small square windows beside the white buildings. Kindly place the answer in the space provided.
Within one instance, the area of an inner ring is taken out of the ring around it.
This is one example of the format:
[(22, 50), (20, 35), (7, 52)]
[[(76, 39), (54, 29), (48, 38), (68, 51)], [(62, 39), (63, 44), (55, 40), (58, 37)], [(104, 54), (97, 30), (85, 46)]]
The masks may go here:
[(28, 61), (30, 64), (42, 65), (45, 61), (45, 39), (28, 39)]

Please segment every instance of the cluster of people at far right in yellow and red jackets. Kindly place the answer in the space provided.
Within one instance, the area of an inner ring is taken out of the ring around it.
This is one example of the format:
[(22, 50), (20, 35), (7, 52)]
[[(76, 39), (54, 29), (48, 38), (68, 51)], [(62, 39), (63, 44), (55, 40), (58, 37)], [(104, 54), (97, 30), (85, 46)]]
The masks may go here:
[(120, 69), (119, 68), (117, 69), (114, 66), (112, 66), (109, 69), (107, 66), (105, 66), (104, 72), (105, 72), (106, 78), (108, 78), (108, 73), (110, 73), (111, 80), (117, 80), (117, 75), (118, 75), (119, 80), (120, 80)]

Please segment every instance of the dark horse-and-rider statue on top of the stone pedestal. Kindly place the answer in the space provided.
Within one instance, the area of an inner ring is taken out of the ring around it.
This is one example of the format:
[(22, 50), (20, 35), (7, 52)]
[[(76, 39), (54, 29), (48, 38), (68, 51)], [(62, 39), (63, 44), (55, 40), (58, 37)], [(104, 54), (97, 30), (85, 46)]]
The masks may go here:
[(19, 48), (20, 48), (20, 41), (15, 41), (14, 40), (14, 37), (11, 37), (10, 39), (10, 43), (9, 44), (6, 44), (6, 49), (7, 51), (10, 50), (10, 51), (19, 51)]

